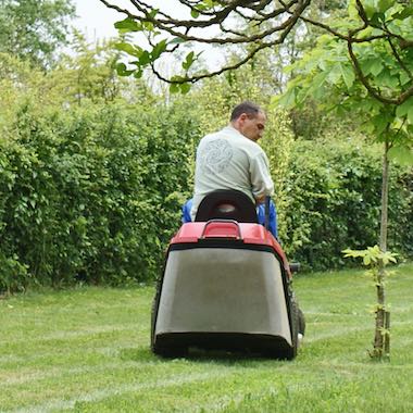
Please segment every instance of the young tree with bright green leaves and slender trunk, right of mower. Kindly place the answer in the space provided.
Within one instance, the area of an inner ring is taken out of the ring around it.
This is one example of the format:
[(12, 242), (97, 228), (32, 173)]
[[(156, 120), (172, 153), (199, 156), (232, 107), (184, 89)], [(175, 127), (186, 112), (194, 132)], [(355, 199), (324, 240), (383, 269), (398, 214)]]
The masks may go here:
[[(317, 99), (337, 113), (359, 118), (365, 133), (383, 145), (379, 250), (367, 255), (378, 263), (374, 350), (389, 351), (389, 312), (385, 300), (389, 159), (413, 164), (413, 8), (404, 1), (351, 1), (348, 18), (321, 24), (317, 46), (296, 64), (301, 72), (280, 102), (292, 107)], [(343, 25), (345, 23), (345, 25)], [(347, 250), (349, 253), (349, 250)], [(368, 259), (370, 260), (370, 259)], [(368, 262), (370, 264), (370, 262)], [(384, 334), (386, 331), (386, 334)]]

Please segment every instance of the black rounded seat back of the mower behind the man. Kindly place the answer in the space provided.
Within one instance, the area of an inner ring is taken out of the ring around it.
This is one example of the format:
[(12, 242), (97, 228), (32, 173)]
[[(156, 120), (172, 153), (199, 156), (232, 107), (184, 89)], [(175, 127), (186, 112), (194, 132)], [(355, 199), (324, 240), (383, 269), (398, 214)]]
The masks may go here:
[(218, 189), (206, 195), (198, 206), (195, 221), (235, 220), (240, 223), (258, 223), (255, 205), (239, 190)]

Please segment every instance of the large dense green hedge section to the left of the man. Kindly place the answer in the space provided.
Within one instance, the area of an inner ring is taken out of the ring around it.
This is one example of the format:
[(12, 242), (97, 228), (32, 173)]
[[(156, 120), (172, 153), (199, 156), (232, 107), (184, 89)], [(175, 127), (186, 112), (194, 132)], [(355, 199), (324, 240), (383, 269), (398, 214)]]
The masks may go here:
[(17, 113), (0, 140), (0, 290), (159, 272), (197, 125), (183, 111), (124, 108)]

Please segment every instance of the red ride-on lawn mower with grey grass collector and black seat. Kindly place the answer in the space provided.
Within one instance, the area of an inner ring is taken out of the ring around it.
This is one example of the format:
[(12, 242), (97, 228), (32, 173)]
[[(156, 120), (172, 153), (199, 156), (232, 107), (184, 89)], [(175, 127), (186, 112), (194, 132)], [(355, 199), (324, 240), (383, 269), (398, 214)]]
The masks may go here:
[(182, 356), (198, 348), (297, 355), (304, 321), (291, 289), (292, 265), (266, 227), (240, 191), (202, 200), (195, 222), (172, 238), (158, 281), (155, 354)]

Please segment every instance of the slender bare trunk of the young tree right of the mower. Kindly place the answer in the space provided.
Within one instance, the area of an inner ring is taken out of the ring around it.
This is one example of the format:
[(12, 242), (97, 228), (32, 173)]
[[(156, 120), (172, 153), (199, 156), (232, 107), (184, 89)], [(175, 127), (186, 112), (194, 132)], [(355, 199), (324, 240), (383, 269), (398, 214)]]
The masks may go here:
[[(389, 193), (389, 141), (385, 142), (381, 171), (381, 217), (380, 217), (380, 250), (387, 251), (387, 224), (388, 224), (388, 193)], [(385, 333), (390, 328), (390, 314), (386, 312), (385, 295), (385, 268), (383, 262), (379, 263), (377, 275), (377, 310), (376, 310), (376, 330), (374, 336), (374, 356), (381, 359), (385, 349), (390, 349), (390, 336)]]

